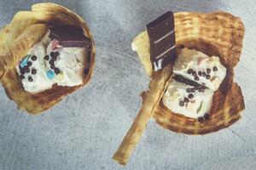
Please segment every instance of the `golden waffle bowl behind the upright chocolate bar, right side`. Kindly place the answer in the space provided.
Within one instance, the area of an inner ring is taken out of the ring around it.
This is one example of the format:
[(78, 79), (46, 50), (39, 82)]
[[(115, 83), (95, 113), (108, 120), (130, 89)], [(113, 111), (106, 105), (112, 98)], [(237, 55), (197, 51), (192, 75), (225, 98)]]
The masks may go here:
[[(241, 55), (244, 26), (241, 20), (231, 14), (180, 12), (174, 14), (177, 53), (179, 47), (199, 50), (208, 55), (218, 56), (227, 68), (227, 76), (213, 95), (211, 117), (206, 122), (173, 113), (163, 105), (154, 110), (154, 118), (160, 126), (177, 133), (205, 134), (229, 127), (241, 117), (245, 109), (241, 88), (233, 82), (234, 67)], [(152, 77), (150, 48), (147, 31), (140, 33), (132, 42), (145, 71)], [(166, 82), (168, 83), (168, 82)], [(143, 100), (148, 92), (143, 93)], [(162, 92), (164, 94), (164, 91)]]

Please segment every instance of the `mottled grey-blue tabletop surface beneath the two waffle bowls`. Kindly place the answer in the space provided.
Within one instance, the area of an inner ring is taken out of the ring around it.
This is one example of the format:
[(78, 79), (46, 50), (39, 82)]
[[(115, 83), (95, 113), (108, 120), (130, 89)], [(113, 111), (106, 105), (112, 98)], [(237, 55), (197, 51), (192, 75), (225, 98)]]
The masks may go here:
[[(39, 1), (0, 1), (0, 26)], [(54, 1), (80, 14), (96, 40), (90, 84), (39, 116), (18, 111), (0, 88), (0, 169), (256, 169), (255, 1)], [(148, 77), (131, 51), (145, 24), (167, 10), (224, 10), (241, 17), (246, 34), (236, 67), (246, 111), (232, 127), (205, 136), (172, 133), (148, 123), (126, 167), (112, 160), (139, 111)], [(254, 114), (254, 116), (253, 116)]]

